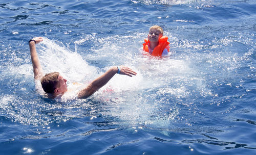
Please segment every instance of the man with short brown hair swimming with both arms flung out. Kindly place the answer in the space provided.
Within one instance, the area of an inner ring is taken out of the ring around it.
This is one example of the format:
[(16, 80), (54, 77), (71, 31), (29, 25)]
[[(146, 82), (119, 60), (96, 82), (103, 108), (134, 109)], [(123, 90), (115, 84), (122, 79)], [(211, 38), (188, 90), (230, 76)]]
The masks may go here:
[[(42, 89), (52, 98), (60, 98), (68, 91), (67, 80), (59, 74), (59, 72), (52, 72), (44, 75), (42, 67), (40, 65), (35, 44), (44, 40), (42, 37), (35, 37), (29, 41), (30, 56), (33, 64), (34, 80), (40, 80)], [(87, 98), (95, 93), (98, 89), (103, 87), (110, 79), (116, 74), (123, 74), (127, 76), (136, 75), (137, 73), (129, 67), (114, 66), (111, 67), (104, 74), (93, 80), (86, 88), (78, 91), (77, 98)]]

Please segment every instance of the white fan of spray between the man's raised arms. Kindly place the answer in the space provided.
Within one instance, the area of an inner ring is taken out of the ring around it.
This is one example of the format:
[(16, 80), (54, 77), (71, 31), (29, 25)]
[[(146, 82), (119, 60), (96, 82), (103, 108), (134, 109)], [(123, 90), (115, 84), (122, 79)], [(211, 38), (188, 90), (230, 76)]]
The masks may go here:
[(90, 66), (79, 54), (44, 38), (39, 44), (38, 55), (45, 72), (58, 71), (69, 81), (81, 82), (92, 79), (96, 67)]

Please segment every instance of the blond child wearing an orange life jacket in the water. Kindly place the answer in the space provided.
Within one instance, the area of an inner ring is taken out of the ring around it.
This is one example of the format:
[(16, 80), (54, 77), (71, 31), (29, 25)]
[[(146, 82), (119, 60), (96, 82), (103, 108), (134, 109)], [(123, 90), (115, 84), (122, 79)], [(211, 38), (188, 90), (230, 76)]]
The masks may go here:
[(167, 36), (163, 36), (163, 29), (154, 25), (144, 40), (143, 50), (152, 56), (167, 56), (170, 48), (167, 39)]

